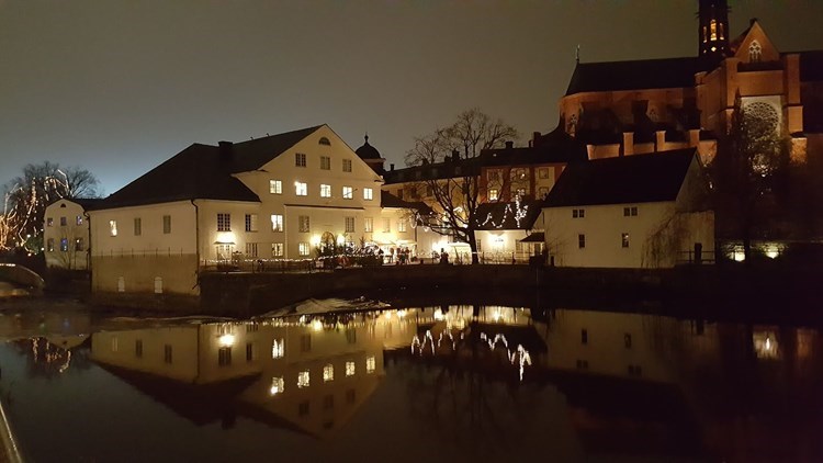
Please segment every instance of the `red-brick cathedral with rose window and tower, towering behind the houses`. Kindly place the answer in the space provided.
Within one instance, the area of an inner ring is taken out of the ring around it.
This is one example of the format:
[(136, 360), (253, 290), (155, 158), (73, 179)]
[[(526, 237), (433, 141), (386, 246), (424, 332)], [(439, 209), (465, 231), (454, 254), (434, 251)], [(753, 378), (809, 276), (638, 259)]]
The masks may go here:
[(823, 53), (781, 53), (753, 19), (731, 33), (725, 0), (700, 1), (692, 57), (577, 63), (561, 126), (590, 159), (696, 148), (709, 163), (735, 99), (790, 136), (792, 159), (823, 148)]

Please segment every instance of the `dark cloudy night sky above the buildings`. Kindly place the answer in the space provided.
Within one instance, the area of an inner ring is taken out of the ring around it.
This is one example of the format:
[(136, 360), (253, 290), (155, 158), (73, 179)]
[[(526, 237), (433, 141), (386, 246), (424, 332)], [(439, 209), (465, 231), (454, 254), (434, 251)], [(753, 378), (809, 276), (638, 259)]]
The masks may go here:
[[(823, 1), (731, 1), (782, 52), (823, 48)], [(192, 143), (327, 123), (403, 163), (473, 106), (556, 125), (583, 61), (692, 56), (697, 0), (0, 0), (0, 183), (27, 162), (113, 193)]]

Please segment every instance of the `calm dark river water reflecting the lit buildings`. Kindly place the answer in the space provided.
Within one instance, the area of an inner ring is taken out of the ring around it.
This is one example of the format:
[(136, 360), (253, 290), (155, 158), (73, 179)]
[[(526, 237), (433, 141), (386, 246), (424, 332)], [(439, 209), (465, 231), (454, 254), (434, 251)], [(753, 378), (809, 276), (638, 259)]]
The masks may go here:
[(0, 399), (33, 462), (823, 461), (815, 328), (339, 305), (0, 305)]

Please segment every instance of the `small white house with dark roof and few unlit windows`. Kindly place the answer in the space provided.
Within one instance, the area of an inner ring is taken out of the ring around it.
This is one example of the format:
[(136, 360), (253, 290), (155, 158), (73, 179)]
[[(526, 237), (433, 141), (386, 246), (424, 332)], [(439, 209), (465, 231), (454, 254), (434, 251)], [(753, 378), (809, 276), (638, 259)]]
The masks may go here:
[(713, 261), (708, 193), (694, 148), (568, 165), (538, 218), (548, 263), (669, 268)]

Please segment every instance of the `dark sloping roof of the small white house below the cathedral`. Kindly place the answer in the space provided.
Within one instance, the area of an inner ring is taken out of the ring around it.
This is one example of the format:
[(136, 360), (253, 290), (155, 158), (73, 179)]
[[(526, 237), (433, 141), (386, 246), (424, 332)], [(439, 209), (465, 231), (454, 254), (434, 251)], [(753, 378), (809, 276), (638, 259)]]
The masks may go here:
[(696, 148), (568, 165), (544, 207), (674, 201)]

